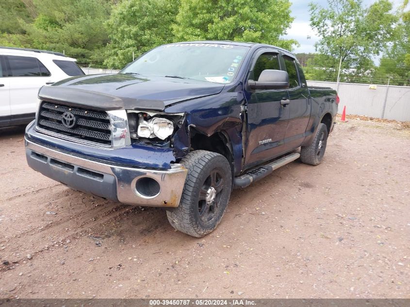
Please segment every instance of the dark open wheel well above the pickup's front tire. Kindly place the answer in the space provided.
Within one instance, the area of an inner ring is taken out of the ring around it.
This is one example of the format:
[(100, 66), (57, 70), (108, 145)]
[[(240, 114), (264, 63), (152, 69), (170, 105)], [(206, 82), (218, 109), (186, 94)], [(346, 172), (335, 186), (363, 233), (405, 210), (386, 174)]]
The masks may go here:
[[(192, 131), (192, 130), (191, 130)], [(193, 131), (192, 131), (193, 132)], [(233, 169), (233, 154), (228, 136), (224, 132), (216, 132), (211, 136), (202, 133), (193, 133), (191, 136), (191, 150), (208, 150), (227, 158)]]

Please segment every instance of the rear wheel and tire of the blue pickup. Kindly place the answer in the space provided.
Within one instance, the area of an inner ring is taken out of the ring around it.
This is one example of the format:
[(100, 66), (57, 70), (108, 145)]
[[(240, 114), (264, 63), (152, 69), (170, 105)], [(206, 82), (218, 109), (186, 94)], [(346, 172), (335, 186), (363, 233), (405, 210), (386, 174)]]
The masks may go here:
[(325, 154), (327, 142), (328, 128), (320, 123), (311, 145), (301, 147), (300, 160), (306, 164), (319, 165)]

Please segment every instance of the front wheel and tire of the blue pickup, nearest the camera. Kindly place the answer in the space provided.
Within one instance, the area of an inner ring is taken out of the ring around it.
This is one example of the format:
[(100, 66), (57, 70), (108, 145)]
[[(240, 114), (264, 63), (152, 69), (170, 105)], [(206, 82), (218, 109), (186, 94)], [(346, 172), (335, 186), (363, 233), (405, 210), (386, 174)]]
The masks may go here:
[(169, 223), (193, 237), (218, 226), (228, 206), (232, 175), (228, 160), (215, 152), (195, 150), (180, 162), (188, 169), (180, 205), (167, 209)]

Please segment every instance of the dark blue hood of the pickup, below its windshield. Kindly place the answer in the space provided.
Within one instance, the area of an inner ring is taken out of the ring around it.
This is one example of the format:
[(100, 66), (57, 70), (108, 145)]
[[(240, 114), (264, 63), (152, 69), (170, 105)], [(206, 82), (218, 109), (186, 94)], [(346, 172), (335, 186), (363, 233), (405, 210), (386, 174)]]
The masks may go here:
[(72, 77), (43, 86), (41, 100), (64, 102), (104, 111), (156, 110), (204, 96), (218, 94), (224, 84), (133, 74), (104, 74)]

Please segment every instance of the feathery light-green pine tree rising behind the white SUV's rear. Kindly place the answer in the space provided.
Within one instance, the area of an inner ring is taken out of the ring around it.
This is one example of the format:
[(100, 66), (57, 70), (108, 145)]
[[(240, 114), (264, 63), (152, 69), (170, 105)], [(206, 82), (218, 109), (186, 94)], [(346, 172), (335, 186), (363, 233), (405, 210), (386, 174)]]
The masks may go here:
[(108, 33), (108, 0), (33, 0), (38, 13), (24, 29), (34, 48), (49, 49), (76, 57), (81, 64), (101, 65)]

